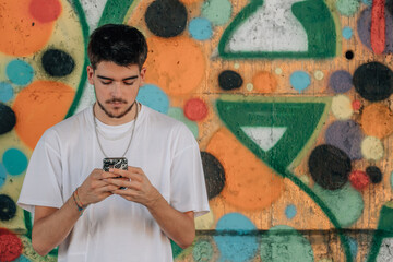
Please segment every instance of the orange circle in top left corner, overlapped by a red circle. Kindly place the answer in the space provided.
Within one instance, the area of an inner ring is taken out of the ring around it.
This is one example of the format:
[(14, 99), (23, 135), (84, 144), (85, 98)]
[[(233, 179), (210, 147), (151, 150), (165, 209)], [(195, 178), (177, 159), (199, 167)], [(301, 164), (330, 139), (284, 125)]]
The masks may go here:
[(0, 0), (0, 51), (11, 56), (29, 56), (48, 43), (53, 23), (40, 23), (29, 13), (29, 2)]

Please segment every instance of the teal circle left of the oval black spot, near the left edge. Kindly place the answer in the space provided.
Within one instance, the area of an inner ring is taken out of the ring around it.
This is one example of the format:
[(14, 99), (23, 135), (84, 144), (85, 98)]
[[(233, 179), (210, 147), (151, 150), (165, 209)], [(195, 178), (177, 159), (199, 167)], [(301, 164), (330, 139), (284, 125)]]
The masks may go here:
[(26, 85), (34, 76), (33, 68), (22, 60), (11, 61), (5, 69), (9, 80), (16, 85)]

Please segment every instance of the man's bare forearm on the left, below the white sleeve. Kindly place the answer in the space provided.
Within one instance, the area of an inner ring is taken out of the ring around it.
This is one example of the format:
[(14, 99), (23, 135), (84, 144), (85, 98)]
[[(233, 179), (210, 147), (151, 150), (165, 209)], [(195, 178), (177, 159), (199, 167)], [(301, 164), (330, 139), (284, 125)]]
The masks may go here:
[(32, 245), (38, 254), (46, 255), (67, 238), (81, 213), (71, 196), (59, 210), (36, 206), (36, 215), (41, 218), (34, 221)]

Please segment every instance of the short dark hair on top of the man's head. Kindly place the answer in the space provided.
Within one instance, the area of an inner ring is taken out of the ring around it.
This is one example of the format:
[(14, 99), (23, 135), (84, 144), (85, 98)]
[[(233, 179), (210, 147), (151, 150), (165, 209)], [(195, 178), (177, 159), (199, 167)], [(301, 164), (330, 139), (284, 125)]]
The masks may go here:
[(124, 24), (106, 24), (90, 37), (87, 56), (93, 69), (102, 61), (118, 66), (138, 64), (141, 69), (147, 57), (147, 44), (135, 27)]

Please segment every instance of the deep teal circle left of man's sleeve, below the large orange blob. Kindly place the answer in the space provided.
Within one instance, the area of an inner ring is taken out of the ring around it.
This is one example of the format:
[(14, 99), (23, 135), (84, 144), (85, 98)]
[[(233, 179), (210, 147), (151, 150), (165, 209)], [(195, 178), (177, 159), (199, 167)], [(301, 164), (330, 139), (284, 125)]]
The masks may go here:
[(8, 174), (11, 176), (21, 175), (27, 167), (27, 157), (16, 148), (5, 151), (2, 162)]

